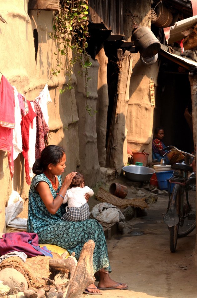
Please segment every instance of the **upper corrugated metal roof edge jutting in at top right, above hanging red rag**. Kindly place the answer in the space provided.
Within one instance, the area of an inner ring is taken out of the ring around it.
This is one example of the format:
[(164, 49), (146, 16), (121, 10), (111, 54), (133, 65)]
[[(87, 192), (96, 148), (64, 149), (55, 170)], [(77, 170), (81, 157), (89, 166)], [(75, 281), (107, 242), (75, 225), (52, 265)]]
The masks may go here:
[[(179, 22), (176, 22), (174, 26), (168, 27), (169, 28), (169, 36), (167, 38), (167, 43), (172, 44), (173, 42), (179, 41), (185, 38), (185, 35), (182, 34), (185, 30), (193, 27), (197, 24), (197, 15), (191, 18), (186, 18)], [(167, 31), (168, 28), (165, 28), (164, 31)]]

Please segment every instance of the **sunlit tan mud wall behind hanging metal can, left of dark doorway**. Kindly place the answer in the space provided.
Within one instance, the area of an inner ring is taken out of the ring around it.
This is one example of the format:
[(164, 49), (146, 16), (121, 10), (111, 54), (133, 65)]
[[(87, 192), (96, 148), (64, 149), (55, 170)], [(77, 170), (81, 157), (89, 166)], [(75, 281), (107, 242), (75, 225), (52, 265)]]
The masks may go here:
[[(127, 41), (131, 40), (134, 25), (150, 28), (150, 7), (150, 0), (125, 2), (124, 33)], [(145, 149), (145, 152), (149, 153), (149, 160), (152, 160), (154, 105), (151, 105), (149, 84), (150, 80), (154, 81), (154, 90), (156, 90), (159, 62), (144, 65), (140, 60), (139, 52), (134, 53), (132, 71), (126, 119), (127, 145), (133, 152)]]

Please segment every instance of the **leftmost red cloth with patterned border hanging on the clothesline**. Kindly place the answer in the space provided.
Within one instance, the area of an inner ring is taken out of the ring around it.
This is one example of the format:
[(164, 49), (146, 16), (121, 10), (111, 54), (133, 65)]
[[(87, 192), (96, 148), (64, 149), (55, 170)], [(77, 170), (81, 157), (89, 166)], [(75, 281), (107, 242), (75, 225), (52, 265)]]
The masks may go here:
[(13, 178), (13, 128), (15, 127), (14, 118), (14, 89), (8, 80), (2, 76), (0, 83), (0, 150), (8, 151), (8, 163), (10, 176)]

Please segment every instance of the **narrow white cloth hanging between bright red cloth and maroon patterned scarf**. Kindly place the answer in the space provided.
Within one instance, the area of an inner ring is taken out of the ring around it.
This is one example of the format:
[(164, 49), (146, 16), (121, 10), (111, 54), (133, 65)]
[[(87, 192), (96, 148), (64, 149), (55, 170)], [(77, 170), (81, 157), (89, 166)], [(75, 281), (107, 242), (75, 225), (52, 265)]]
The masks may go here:
[[(34, 104), (31, 102), (33, 111), (35, 112)], [(33, 178), (34, 174), (32, 171), (33, 164), (35, 162), (35, 146), (36, 146), (36, 117), (33, 118), (33, 128), (30, 123), (29, 128), (29, 151), (28, 151), (28, 162), (29, 162), (29, 176)]]

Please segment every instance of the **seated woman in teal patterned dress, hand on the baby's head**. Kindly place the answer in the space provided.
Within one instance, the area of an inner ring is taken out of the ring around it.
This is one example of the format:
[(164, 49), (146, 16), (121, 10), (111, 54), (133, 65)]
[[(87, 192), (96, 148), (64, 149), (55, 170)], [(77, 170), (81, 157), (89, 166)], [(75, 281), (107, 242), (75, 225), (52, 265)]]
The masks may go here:
[[(28, 233), (37, 233), (39, 243), (55, 244), (75, 252), (78, 259), (84, 243), (92, 239), (95, 243), (93, 252), (93, 270), (99, 272), (98, 288), (92, 284), (85, 293), (101, 295), (99, 290), (125, 290), (126, 284), (115, 282), (109, 277), (111, 267), (108, 259), (107, 244), (103, 227), (95, 219), (83, 222), (62, 220), (65, 206), (62, 205), (66, 190), (77, 172), (68, 174), (63, 183), (61, 175), (66, 167), (66, 154), (59, 146), (49, 145), (41, 152), (40, 159), (33, 165), (36, 174), (31, 182), (28, 203)], [(86, 195), (88, 200), (89, 195)]]

